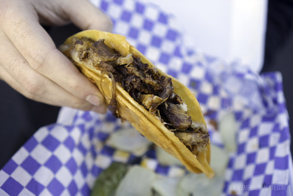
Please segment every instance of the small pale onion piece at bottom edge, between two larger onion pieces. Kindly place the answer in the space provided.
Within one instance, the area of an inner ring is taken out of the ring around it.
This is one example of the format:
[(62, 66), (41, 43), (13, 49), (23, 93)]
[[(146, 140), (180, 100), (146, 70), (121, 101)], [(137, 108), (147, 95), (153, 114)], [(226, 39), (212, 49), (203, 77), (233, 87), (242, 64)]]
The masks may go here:
[(152, 187), (161, 196), (175, 196), (180, 179), (178, 177), (162, 177), (156, 179)]

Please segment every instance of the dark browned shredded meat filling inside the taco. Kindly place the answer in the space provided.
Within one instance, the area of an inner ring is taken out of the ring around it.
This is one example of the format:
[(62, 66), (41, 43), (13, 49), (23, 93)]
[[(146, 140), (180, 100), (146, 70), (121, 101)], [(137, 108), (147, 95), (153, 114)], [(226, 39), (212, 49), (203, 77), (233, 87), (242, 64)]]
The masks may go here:
[(208, 144), (207, 130), (192, 123), (187, 105), (173, 91), (171, 78), (162, 76), (156, 68), (142, 63), (137, 54), (121, 56), (115, 49), (108, 47), (104, 39), (94, 42), (89, 38), (74, 37), (73, 43), (80, 61), (89, 62), (112, 79), (112, 97), (108, 98), (108, 108), (113, 115), (119, 117), (115, 95), (117, 82), (190, 151)]

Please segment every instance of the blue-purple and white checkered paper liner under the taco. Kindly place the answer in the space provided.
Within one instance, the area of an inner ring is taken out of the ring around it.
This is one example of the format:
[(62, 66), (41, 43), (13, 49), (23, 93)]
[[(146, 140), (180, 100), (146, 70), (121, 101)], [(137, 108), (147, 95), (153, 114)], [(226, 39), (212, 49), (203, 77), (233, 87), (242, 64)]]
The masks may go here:
[[(125, 35), (156, 66), (197, 93), (212, 144), (224, 146), (212, 122), (234, 113), (237, 150), (230, 154), (222, 195), (288, 193), (292, 161), (280, 73), (259, 76), (237, 62), (226, 64), (190, 49), (176, 20), (158, 7), (139, 1), (92, 3), (110, 16), (114, 33)], [(111, 133), (128, 127), (110, 113), (62, 108), (57, 123), (40, 128), (0, 170), (0, 195), (89, 195), (96, 177), (113, 161), (141, 163), (170, 177), (185, 175), (183, 167), (160, 165), (152, 148), (126, 153), (107, 144)], [(276, 185), (285, 188), (258, 188)]]

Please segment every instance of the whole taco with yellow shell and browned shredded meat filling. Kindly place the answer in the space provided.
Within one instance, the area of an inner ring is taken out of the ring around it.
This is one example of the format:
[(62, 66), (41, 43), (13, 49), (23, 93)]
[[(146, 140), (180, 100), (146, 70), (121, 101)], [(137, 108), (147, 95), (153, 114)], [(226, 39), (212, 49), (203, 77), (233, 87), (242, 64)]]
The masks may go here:
[(98, 86), (113, 115), (128, 120), (191, 172), (214, 176), (205, 119), (185, 85), (156, 68), (125, 36), (86, 30), (59, 49)]

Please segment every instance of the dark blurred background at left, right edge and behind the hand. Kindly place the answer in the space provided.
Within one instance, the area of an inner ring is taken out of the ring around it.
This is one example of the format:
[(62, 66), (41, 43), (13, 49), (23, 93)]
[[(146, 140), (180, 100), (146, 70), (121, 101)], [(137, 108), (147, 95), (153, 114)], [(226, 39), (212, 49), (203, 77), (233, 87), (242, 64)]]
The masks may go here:
[[(44, 27), (56, 46), (81, 31), (73, 25)], [(289, 116), (293, 116), (293, 1), (269, 0), (263, 70), (280, 71)], [(0, 168), (41, 126), (55, 123), (59, 107), (29, 100), (0, 81)], [(292, 120), (289, 122), (293, 127)], [(291, 136), (292, 138), (292, 136)], [(292, 143), (291, 143), (292, 151)]]

